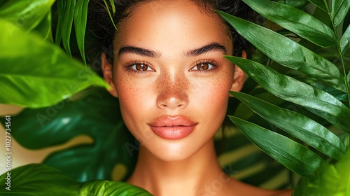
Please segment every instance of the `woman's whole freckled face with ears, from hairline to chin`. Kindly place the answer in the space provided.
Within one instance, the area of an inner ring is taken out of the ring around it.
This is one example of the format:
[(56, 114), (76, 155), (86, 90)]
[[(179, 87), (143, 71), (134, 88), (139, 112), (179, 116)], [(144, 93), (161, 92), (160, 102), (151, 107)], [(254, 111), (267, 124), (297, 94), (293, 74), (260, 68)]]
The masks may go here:
[(147, 151), (185, 160), (211, 141), (228, 91), (240, 90), (244, 77), (222, 57), (232, 41), (217, 15), (190, 1), (141, 3), (120, 24), (113, 49), (113, 66), (103, 57), (104, 77)]

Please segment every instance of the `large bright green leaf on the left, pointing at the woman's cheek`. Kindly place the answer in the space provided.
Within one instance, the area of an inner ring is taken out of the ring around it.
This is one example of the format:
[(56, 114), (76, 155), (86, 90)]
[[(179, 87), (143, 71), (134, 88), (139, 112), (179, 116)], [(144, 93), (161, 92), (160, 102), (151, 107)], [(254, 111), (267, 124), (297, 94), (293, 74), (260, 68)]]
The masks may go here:
[(51, 106), (90, 85), (107, 87), (87, 66), (40, 36), (6, 20), (0, 20), (0, 31), (1, 104)]

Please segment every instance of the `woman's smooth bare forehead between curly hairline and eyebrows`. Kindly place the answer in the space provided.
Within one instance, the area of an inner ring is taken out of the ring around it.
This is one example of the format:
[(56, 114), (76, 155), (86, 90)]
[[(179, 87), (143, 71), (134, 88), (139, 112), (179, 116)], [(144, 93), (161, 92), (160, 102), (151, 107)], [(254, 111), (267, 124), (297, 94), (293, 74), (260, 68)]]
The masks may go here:
[(232, 52), (232, 41), (216, 13), (208, 13), (191, 1), (151, 1), (132, 8), (119, 25), (113, 48), (134, 45), (163, 53), (213, 42)]

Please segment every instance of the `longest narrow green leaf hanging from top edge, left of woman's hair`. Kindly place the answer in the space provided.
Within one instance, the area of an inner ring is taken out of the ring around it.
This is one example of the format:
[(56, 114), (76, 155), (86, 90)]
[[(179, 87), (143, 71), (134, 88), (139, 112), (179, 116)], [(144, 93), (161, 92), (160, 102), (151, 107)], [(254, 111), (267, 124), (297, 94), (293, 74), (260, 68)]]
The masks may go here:
[(74, 12), (74, 28), (76, 29), (76, 41), (78, 42), (78, 48), (81, 57), (86, 64), (85, 59), (85, 29), (87, 22), (87, 6), (89, 5), (89, 0), (77, 0), (76, 9)]

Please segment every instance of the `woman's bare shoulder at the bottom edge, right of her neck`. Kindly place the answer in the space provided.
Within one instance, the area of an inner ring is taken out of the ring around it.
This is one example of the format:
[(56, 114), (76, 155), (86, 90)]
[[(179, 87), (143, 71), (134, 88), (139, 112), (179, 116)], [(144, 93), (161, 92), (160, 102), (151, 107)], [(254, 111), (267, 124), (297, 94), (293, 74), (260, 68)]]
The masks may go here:
[(255, 186), (248, 185), (246, 183), (242, 183), (235, 179), (232, 179), (232, 193), (235, 192), (234, 195), (256, 195), (256, 196), (290, 196), (293, 193), (292, 189), (288, 190), (267, 190), (263, 188), (258, 188)]

